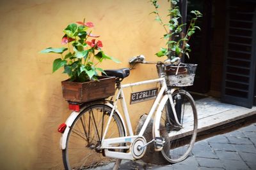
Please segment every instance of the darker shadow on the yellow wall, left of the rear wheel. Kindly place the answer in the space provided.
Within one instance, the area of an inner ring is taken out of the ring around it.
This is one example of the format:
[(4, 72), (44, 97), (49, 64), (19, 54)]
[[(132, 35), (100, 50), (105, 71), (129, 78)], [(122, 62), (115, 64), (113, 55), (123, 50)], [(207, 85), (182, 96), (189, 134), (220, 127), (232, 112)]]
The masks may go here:
[(67, 102), (64, 101), (60, 86), (51, 89), (49, 87), (49, 101), (47, 101), (47, 113), (45, 122), (39, 128), (40, 138), (37, 142), (37, 157), (33, 169), (64, 169), (62, 163), (62, 153), (60, 150), (61, 134), (57, 131), (58, 125), (65, 122), (70, 111)]

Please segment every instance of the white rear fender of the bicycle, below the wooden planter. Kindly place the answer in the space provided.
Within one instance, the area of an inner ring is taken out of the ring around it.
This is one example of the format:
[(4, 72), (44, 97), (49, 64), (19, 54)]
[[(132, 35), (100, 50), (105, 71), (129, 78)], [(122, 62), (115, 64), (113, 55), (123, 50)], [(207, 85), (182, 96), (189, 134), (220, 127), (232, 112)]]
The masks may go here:
[[(113, 108), (113, 105), (110, 103), (105, 103), (107, 106), (109, 106), (110, 108)], [(86, 106), (84, 106), (83, 108), (81, 108), (81, 111), (84, 110), (84, 108), (86, 108)], [(79, 115), (79, 113), (81, 112), (77, 112), (77, 111), (73, 111), (70, 116), (67, 118), (65, 124), (67, 125), (65, 131), (63, 132), (61, 139), (60, 139), (60, 149), (61, 150), (65, 150), (66, 149), (66, 141), (68, 138), (68, 133), (70, 131), (70, 127), (72, 126), (74, 120), (76, 120), (77, 116)], [(125, 136), (127, 136), (127, 130), (126, 130), (126, 126), (125, 126), (125, 122), (124, 122), (124, 118), (122, 117), (122, 115), (120, 114), (120, 112), (118, 110), (116, 110), (116, 113), (118, 115), (118, 117), (120, 117), (120, 120), (122, 122), (122, 124), (124, 125), (124, 134)]]

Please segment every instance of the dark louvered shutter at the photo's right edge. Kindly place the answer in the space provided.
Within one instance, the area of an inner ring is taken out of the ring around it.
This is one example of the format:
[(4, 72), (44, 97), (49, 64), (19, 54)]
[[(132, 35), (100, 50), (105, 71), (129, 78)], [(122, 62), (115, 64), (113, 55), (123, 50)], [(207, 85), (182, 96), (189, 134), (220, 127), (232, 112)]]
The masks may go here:
[(255, 96), (256, 1), (228, 1), (221, 100), (252, 108)]

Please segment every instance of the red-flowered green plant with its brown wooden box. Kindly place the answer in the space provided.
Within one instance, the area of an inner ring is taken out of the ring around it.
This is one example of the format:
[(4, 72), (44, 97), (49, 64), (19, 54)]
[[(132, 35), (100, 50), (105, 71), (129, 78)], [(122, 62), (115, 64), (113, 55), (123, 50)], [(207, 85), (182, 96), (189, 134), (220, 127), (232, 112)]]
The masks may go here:
[(93, 35), (92, 22), (76, 22), (63, 30), (61, 43), (67, 47), (45, 48), (40, 53), (58, 53), (60, 57), (52, 64), (52, 73), (63, 67), (69, 79), (62, 81), (63, 97), (67, 101), (86, 102), (112, 96), (115, 93), (115, 78), (99, 76), (104, 73), (98, 64), (113, 60), (102, 51), (102, 41)]

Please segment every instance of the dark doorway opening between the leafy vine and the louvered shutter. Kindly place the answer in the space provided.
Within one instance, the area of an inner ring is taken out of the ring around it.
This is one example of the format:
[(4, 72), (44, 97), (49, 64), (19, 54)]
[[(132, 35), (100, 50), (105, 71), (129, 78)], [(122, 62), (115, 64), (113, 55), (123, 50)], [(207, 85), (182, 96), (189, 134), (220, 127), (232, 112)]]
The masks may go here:
[(189, 41), (191, 46), (190, 57), (186, 57), (185, 62), (198, 64), (196, 69), (195, 82), (189, 90), (206, 93), (211, 85), (211, 0), (188, 0), (187, 20), (191, 18), (191, 10), (198, 10), (203, 13), (203, 17), (196, 22), (201, 31), (196, 31)]

